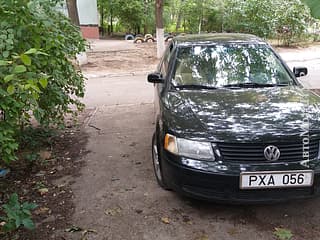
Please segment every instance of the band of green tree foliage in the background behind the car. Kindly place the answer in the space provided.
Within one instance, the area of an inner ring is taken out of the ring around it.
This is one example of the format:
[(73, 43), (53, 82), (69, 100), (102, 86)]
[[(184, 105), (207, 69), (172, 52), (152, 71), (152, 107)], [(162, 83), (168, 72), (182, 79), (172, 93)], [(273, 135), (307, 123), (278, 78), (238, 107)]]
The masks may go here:
[[(165, 0), (164, 23), (168, 32), (245, 32), (278, 38), (285, 44), (305, 36), (318, 0)], [(309, 7), (307, 7), (307, 4)], [(155, 0), (98, 0), (106, 19), (125, 32), (155, 32)], [(110, 22), (109, 22), (110, 23)]]

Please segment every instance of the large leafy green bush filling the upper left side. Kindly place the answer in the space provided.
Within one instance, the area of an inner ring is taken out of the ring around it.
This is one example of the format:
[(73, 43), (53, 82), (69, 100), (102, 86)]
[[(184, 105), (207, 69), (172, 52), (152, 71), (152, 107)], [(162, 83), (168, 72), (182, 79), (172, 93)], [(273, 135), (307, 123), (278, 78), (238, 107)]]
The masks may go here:
[(0, 162), (16, 158), (32, 116), (42, 126), (62, 126), (66, 113), (83, 107), (84, 77), (71, 61), (85, 43), (57, 2), (0, 0)]

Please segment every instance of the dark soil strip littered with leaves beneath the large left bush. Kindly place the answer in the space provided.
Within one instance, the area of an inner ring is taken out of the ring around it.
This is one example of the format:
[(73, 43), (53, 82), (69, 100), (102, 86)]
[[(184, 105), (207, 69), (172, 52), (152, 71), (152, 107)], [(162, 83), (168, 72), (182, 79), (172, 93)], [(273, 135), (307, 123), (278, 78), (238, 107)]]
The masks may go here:
[(25, 159), (23, 151), (18, 153), (21, 160), (11, 165), (8, 176), (0, 178), (0, 205), (13, 192), (18, 193), (21, 203), (36, 203), (36, 230), (20, 229), (11, 235), (0, 231), (0, 239), (48, 239), (55, 229), (65, 228), (74, 212), (70, 184), (80, 176), (74, 169), (84, 165), (82, 157), (87, 154), (88, 135), (83, 126), (89, 116), (90, 111), (85, 110), (76, 125), (73, 120), (66, 121), (64, 130), (46, 133), (38, 129), (30, 141), (37, 144), (35, 152), (39, 154), (32, 162)]

